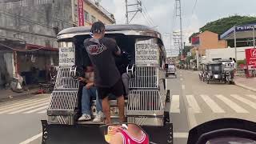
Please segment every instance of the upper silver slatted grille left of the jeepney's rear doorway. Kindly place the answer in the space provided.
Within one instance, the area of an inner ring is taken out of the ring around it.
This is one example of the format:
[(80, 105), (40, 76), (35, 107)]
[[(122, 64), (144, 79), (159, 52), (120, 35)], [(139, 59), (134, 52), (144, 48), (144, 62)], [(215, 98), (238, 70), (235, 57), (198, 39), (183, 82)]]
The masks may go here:
[(54, 89), (78, 89), (79, 81), (72, 78), (70, 67), (60, 67)]

